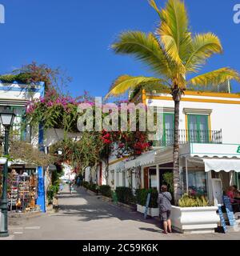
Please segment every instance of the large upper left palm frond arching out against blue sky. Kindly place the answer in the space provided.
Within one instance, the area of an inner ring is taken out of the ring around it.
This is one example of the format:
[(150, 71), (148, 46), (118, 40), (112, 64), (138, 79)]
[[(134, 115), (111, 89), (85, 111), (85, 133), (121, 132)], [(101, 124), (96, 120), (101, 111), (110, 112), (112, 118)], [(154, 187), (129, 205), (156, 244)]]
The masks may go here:
[(157, 74), (170, 74), (170, 66), (158, 39), (154, 34), (141, 31), (129, 31), (120, 34), (118, 41), (112, 45), (116, 54), (132, 54), (145, 62)]

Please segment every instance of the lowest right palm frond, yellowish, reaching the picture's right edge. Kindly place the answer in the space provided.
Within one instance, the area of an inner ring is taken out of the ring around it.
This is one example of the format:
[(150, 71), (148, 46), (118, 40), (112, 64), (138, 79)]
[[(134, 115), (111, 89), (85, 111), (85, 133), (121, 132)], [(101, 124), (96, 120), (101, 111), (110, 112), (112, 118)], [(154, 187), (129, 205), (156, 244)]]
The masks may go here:
[(192, 86), (218, 86), (228, 80), (236, 80), (237, 82), (240, 82), (240, 75), (236, 70), (224, 67), (219, 70), (198, 75), (197, 77), (190, 79), (188, 84)]

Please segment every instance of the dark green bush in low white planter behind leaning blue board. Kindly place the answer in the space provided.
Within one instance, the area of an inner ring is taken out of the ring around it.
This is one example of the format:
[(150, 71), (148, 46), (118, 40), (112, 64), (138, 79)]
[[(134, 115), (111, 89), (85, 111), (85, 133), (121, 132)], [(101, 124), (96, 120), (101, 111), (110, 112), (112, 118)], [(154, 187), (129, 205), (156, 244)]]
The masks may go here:
[(137, 204), (140, 206), (146, 206), (147, 195), (151, 194), (150, 197), (150, 208), (158, 208), (158, 190), (136, 190)]

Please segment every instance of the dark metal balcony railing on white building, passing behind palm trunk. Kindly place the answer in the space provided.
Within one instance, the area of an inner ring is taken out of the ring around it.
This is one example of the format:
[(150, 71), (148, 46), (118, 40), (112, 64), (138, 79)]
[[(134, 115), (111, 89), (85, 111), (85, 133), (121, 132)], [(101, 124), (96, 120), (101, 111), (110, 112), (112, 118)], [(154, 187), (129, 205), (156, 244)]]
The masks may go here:
[[(222, 130), (179, 130), (179, 143), (222, 144)], [(154, 146), (173, 146), (174, 130), (164, 130)]]

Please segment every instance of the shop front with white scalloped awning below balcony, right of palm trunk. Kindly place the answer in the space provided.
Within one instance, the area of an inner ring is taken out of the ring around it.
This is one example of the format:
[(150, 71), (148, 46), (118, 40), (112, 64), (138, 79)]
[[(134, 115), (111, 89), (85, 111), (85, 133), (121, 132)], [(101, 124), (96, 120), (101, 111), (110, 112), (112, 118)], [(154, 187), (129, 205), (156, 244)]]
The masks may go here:
[(211, 204), (223, 204), (230, 186), (239, 190), (240, 154), (231, 144), (190, 144), (180, 150), (182, 181), (187, 193), (205, 195)]

